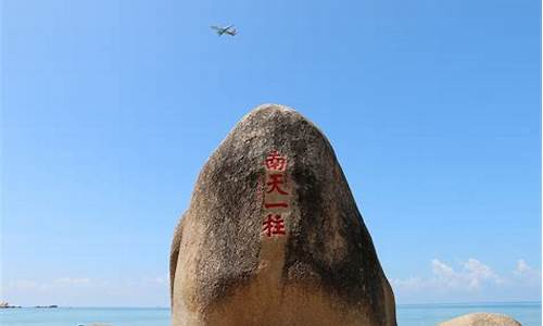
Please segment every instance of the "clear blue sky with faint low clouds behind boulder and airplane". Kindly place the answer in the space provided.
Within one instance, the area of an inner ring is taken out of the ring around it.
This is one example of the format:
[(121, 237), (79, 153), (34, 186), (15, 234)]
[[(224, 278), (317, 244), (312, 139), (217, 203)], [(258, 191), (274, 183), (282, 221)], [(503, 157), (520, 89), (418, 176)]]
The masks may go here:
[(397, 302), (541, 300), (539, 1), (7, 0), (1, 25), (0, 300), (168, 305), (195, 177), (266, 102), (330, 139)]

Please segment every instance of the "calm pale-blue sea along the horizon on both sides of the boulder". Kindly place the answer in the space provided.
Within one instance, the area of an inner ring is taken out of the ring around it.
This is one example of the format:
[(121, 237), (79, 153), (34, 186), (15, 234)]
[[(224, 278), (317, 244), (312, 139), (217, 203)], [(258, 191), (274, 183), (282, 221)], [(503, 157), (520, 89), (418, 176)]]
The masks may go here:
[[(541, 326), (541, 302), (399, 304), (399, 326), (435, 325), (472, 312), (497, 312), (523, 326)], [(169, 326), (167, 308), (14, 308), (0, 310), (2, 326)]]

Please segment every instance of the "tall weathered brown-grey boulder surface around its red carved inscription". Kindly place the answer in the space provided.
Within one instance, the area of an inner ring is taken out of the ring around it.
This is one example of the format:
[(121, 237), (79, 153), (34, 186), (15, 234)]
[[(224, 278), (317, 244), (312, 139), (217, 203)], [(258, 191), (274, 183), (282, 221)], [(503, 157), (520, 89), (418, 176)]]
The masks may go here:
[[(287, 158), (286, 235), (266, 237), (265, 158)], [(295, 111), (256, 108), (198, 178), (171, 255), (180, 325), (396, 325), (394, 296), (326, 137)]]

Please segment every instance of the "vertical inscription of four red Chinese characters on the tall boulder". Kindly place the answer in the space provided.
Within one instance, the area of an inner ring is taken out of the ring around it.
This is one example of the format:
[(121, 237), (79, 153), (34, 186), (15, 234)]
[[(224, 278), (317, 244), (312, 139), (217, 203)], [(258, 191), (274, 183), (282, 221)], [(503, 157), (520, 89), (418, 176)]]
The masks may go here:
[(285, 210), (289, 208), (289, 188), (285, 178), (287, 158), (272, 151), (264, 160), (266, 183), (264, 191), (265, 221), (262, 233), (266, 237), (286, 235)]

